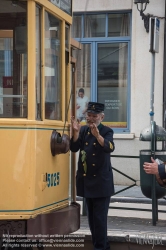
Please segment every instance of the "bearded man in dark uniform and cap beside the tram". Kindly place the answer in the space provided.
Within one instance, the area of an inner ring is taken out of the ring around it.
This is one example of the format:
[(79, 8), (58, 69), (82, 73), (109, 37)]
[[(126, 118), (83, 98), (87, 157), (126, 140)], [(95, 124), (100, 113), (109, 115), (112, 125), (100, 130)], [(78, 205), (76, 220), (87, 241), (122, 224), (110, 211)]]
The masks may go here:
[(109, 250), (107, 214), (114, 193), (110, 153), (114, 151), (113, 130), (101, 124), (104, 104), (89, 102), (87, 125), (71, 119), (73, 137), (70, 149), (79, 152), (76, 175), (77, 195), (85, 197), (94, 250)]

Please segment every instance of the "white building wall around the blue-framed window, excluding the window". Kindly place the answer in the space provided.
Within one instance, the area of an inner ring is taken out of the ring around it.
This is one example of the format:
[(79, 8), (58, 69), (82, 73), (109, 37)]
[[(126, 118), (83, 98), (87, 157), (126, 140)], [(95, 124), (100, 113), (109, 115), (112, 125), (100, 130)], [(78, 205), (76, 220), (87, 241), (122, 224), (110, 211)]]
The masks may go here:
[[(139, 141), (140, 132), (150, 126), (150, 89), (151, 89), (151, 53), (149, 52), (149, 33), (132, 0), (73, 0), (73, 11), (111, 11), (131, 10), (131, 133), (115, 134), (116, 149), (114, 155), (139, 156), (139, 150), (150, 148), (150, 142)], [(165, 16), (165, 0), (150, 0), (145, 14)], [(162, 126), (163, 112), (163, 54), (164, 54), (164, 19), (160, 19), (160, 49), (155, 54), (155, 95), (154, 120)], [(161, 143), (158, 145), (161, 148)], [(140, 180), (139, 159), (112, 158), (113, 167), (135, 180)], [(129, 185), (132, 181), (114, 173), (115, 184)]]

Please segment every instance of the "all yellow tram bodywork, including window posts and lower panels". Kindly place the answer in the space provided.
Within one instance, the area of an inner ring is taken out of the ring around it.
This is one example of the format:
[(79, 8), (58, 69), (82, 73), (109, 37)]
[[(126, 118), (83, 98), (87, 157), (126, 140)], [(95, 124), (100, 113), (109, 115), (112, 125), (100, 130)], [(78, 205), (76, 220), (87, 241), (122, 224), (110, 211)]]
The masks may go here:
[[(41, 17), (42, 121), (35, 120), (36, 4)], [(28, 117), (0, 119), (0, 220), (29, 219), (69, 204), (69, 153), (51, 155), (53, 129), (63, 130), (65, 119), (65, 22), (72, 17), (47, 0), (28, 0)], [(62, 20), (62, 121), (44, 119), (44, 11)], [(70, 76), (68, 76), (70, 79)], [(69, 96), (69, 95), (68, 95)], [(68, 98), (67, 98), (68, 99)], [(68, 123), (66, 124), (68, 129)], [(68, 131), (67, 131), (68, 133)], [(59, 174), (58, 174), (59, 173)], [(48, 175), (59, 176), (59, 185), (48, 187)], [(57, 175), (58, 174), (58, 175)]]

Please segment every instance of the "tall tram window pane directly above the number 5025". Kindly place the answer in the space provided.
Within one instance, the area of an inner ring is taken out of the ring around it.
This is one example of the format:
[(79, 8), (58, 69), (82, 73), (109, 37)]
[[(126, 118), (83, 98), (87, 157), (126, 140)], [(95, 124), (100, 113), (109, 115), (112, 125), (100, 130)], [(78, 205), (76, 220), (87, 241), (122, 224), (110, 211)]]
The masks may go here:
[(45, 12), (45, 118), (61, 120), (61, 22)]

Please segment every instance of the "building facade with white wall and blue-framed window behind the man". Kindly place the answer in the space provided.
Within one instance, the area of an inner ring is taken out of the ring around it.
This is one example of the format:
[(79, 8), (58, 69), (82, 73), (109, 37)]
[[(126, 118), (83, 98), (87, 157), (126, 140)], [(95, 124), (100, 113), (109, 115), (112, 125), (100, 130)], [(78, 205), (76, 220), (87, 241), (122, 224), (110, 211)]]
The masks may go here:
[[(105, 104), (104, 123), (114, 130), (114, 155), (139, 156), (140, 150), (150, 148), (150, 142), (139, 138), (141, 131), (150, 126), (153, 76), (154, 121), (164, 126), (165, 1), (150, 0), (144, 11), (147, 13), (160, 23), (159, 52), (155, 55), (149, 52), (149, 33), (133, 0), (73, 0), (71, 33), (82, 44), (76, 55), (77, 95), (84, 89), (86, 100)], [(139, 185), (139, 158), (113, 157), (112, 165)], [(117, 171), (114, 182), (133, 183)]]

